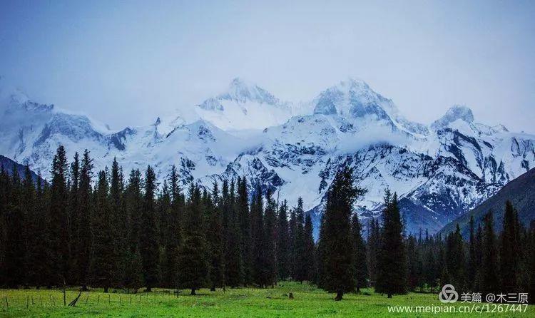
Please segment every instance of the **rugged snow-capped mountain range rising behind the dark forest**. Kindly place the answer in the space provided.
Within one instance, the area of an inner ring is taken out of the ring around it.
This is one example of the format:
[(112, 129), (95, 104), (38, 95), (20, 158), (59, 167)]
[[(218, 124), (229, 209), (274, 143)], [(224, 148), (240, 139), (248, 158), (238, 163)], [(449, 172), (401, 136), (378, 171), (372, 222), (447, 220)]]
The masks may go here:
[(116, 157), (127, 171), (151, 164), (163, 180), (177, 165), (184, 185), (211, 187), (245, 176), (290, 205), (302, 196), (316, 224), (342, 165), (367, 189), (356, 202), (360, 214), (377, 215), (389, 188), (399, 195), (407, 232), (436, 232), (535, 165), (534, 135), (475, 123), (466, 106), (453, 106), (431, 125), (414, 123), (354, 79), (306, 106), (235, 79), (225, 93), (192, 106), (195, 120), (157, 118), (119, 131), (35, 103), (1, 83), (0, 98), (0, 154), (45, 178), (57, 145), (69, 156), (87, 148), (96, 168)]

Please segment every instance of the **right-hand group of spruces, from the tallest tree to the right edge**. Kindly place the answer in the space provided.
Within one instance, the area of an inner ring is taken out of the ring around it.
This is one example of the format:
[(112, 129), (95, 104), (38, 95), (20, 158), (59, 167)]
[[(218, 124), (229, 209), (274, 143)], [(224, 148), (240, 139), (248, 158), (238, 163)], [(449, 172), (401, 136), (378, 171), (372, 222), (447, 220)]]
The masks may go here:
[(350, 168), (337, 173), (327, 192), (315, 282), (337, 292), (336, 299), (370, 284), (388, 297), (408, 291), (437, 292), (444, 284), (453, 284), (459, 294), (535, 295), (535, 226), (524, 228), (511, 202), (504, 207), (499, 235), (489, 211), (477, 227), (472, 218), (466, 241), (459, 225), (446, 237), (432, 237), (427, 231), (424, 237), (407, 236), (397, 195), (387, 191), (380, 220), (367, 223), (365, 242), (362, 225), (352, 214), (353, 202), (364, 193), (353, 187)]

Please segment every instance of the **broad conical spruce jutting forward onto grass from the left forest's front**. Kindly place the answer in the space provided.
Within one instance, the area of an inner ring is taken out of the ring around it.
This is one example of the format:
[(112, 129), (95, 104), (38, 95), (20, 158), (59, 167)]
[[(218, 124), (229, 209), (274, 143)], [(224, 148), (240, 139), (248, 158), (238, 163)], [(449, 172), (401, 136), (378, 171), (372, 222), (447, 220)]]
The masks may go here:
[(178, 282), (180, 287), (191, 289), (190, 294), (194, 295), (195, 290), (208, 283), (208, 247), (198, 185), (190, 185), (188, 196), (183, 216), (183, 244), (178, 257)]

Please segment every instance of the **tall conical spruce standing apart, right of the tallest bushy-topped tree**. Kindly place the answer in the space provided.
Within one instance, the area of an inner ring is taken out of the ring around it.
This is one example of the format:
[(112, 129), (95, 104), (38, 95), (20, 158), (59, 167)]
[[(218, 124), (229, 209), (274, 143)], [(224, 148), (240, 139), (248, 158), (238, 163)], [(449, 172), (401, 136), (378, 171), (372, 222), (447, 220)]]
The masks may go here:
[(407, 262), (399, 216), (397, 194), (384, 195), (381, 247), (377, 255), (376, 291), (392, 298), (392, 294), (407, 292)]

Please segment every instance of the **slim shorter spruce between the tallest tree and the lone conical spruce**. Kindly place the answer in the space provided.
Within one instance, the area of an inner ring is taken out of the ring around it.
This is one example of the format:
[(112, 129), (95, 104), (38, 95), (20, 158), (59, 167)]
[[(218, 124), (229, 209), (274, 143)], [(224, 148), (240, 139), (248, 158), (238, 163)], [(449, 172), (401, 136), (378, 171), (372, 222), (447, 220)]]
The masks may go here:
[(353, 213), (351, 219), (351, 237), (353, 244), (353, 267), (355, 272), (355, 287), (357, 292), (367, 286), (368, 269), (366, 266), (366, 245), (362, 238), (362, 227), (357, 213)]

